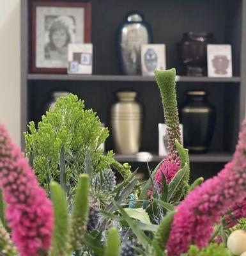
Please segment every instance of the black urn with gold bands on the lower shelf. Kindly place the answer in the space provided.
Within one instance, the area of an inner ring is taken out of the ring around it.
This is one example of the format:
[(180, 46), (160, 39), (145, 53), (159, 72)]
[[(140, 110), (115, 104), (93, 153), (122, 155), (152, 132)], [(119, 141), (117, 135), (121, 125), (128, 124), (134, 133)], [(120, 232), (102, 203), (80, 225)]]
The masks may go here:
[(207, 95), (206, 91), (188, 91), (187, 102), (180, 108), (184, 146), (190, 152), (206, 152), (213, 137), (216, 113)]

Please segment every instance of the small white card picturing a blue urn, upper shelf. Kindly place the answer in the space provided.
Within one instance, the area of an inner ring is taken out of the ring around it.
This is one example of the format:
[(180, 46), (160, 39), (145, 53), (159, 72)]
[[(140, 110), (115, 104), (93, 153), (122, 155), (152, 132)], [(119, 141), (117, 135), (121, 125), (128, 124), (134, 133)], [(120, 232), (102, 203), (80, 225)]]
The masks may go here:
[(165, 45), (141, 45), (142, 76), (154, 76), (154, 70), (165, 70)]

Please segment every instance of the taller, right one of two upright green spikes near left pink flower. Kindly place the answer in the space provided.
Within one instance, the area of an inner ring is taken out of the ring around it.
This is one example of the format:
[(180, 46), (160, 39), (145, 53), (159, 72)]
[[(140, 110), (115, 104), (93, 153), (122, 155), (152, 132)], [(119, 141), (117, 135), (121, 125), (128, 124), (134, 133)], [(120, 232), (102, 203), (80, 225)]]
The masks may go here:
[(89, 175), (81, 174), (75, 192), (71, 221), (70, 237), (73, 250), (77, 250), (81, 246), (82, 238), (86, 232), (89, 214), (88, 195)]

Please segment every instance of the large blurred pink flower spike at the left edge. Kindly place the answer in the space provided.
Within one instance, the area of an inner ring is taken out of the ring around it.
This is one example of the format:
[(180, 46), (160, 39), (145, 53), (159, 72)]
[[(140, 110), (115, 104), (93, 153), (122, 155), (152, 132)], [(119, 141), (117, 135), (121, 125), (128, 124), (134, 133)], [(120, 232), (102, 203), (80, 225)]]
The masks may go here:
[(6, 218), (20, 255), (38, 256), (48, 250), (53, 228), (52, 203), (19, 147), (0, 124), (0, 187), (8, 204)]

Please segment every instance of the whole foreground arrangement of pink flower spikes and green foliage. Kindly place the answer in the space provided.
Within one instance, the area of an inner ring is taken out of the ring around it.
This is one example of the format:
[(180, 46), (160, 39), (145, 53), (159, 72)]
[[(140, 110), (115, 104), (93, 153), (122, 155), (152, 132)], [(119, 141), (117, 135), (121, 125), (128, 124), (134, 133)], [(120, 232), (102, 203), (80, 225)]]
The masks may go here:
[(176, 72), (155, 76), (169, 155), (142, 184), (129, 164), (103, 154), (108, 131), (75, 95), (59, 99), (37, 129), (31, 122), (29, 159), (0, 125), (1, 255), (245, 255), (246, 122), (233, 160), (217, 176), (188, 184)]

